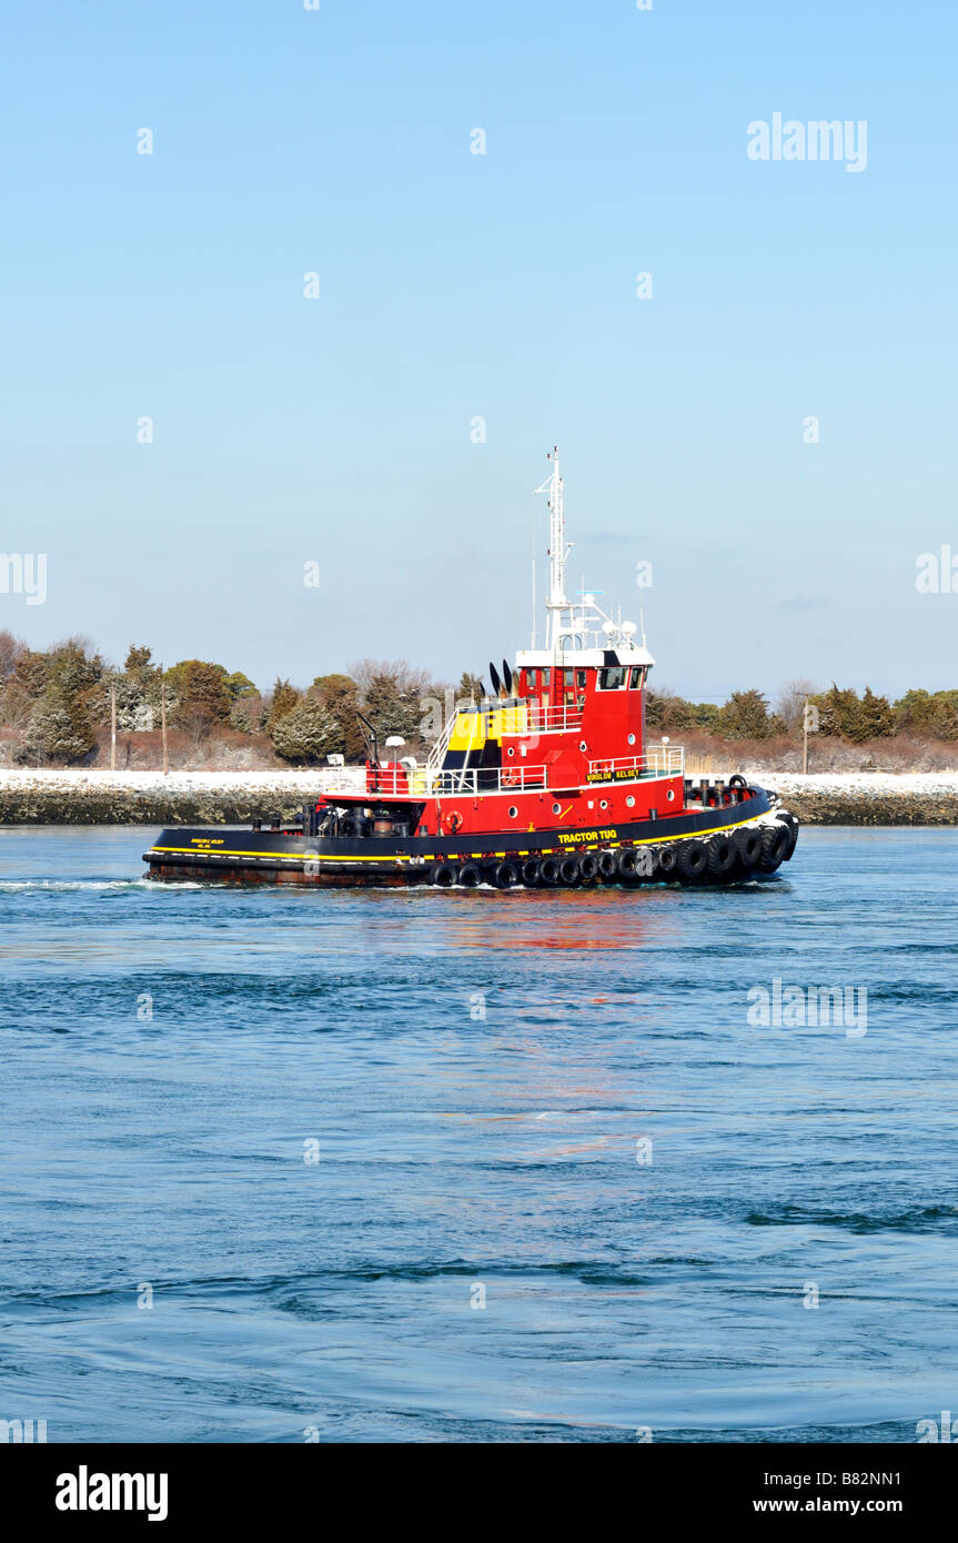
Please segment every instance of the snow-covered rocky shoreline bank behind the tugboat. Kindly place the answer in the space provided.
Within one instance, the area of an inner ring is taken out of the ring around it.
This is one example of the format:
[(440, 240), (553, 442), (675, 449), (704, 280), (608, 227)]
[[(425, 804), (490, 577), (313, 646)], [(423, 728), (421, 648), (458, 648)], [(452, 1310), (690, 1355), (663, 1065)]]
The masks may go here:
[[(312, 772), (0, 770), (0, 826), (230, 826), (298, 815), (344, 770)], [(958, 772), (794, 772), (750, 768), (807, 826), (958, 826)], [(694, 781), (694, 776), (693, 776)]]

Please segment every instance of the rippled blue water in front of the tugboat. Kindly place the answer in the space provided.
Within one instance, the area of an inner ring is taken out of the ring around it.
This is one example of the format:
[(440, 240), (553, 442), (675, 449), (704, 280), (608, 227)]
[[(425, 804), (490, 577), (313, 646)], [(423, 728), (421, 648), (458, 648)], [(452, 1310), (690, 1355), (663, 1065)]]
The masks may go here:
[[(913, 1441), (958, 1409), (956, 833), (511, 895), (153, 886), (148, 835), (0, 832), (0, 1418)], [(865, 988), (865, 1032), (750, 1023), (774, 978)]]

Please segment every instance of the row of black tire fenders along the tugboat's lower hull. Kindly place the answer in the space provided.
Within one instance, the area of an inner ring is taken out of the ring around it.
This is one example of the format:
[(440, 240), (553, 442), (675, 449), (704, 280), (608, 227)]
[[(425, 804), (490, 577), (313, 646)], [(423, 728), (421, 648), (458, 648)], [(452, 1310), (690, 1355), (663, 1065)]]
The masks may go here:
[(506, 858), (498, 864), (435, 863), (429, 883), (438, 889), (571, 889), (575, 884), (730, 884), (751, 873), (774, 873), (798, 841), (798, 819), (782, 812), (767, 826), (740, 826), (727, 836), (670, 841), (660, 847), (617, 847), (605, 852), (569, 852), (566, 856)]

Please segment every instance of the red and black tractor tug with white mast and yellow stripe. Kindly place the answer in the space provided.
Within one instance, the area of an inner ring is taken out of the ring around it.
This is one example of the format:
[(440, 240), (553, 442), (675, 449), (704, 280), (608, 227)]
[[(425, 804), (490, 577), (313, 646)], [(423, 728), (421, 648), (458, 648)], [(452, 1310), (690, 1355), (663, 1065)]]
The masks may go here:
[[(478, 702), (449, 717), (424, 765), (381, 759), (372, 725), (364, 767), (342, 767), (318, 802), (264, 829), (164, 830), (150, 878), (267, 884), (483, 884), (557, 889), (730, 884), (776, 872), (798, 819), (740, 775), (685, 776), (685, 751), (649, 744), (645, 693), (654, 659), (634, 622), (591, 594), (565, 593), (569, 549), (558, 452), (549, 455), (549, 599), (545, 647), (489, 667)], [(390, 742), (387, 742), (389, 745)], [(392, 744), (401, 744), (393, 741)], [(395, 756), (395, 750), (393, 750)]]

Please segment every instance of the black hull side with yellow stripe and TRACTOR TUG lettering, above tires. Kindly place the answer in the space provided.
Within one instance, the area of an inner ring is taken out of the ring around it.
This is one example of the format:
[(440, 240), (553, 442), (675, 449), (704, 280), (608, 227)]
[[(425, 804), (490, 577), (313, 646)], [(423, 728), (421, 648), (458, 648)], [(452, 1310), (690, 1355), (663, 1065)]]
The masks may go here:
[(708, 836), (750, 824), (770, 813), (778, 798), (751, 788), (745, 802), (683, 810), (666, 819), (642, 819), (602, 830), (541, 830), (484, 833), (460, 839), (437, 836), (304, 836), (281, 830), (230, 827), (168, 829), (143, 861), (150, 878), (193, 880), (214, 884), (424, 884), (433, 864), (474, 861), (495, 867), (503, 861), (565, 858), (622, 847), (662, 847), (683, 838)]

